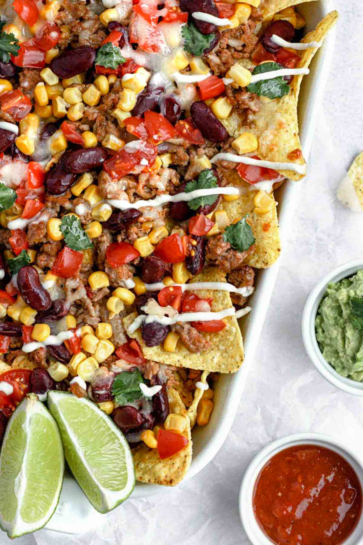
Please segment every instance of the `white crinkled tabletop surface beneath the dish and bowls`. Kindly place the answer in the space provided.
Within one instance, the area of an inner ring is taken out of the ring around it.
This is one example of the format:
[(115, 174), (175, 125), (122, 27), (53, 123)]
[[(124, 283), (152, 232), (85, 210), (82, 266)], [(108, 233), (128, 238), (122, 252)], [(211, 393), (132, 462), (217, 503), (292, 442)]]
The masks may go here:
[[(361, 0), (335, 4), (341, 20), (309, 176), (281, 257), (255, 367), (225, 444), (194, 479), (145, 500), (128, 500), (104, 516), (96, 533), (76, 537), (41, 530), (19, 538), (17, 545), (247, 545), (237, 499), (244, 469), (257, 451), (275, 438), (307, 430), (358, 447), (363, 401), (336, 390), (315, 371), (300, 334), (310, 289), (336, 265), (361, 257), (363, 249), (363, 215), (344, 210), (335, 198), (339, 181), (363, 149), (363, 5)], [(14, 542), (1, 534), (4, 543)]]

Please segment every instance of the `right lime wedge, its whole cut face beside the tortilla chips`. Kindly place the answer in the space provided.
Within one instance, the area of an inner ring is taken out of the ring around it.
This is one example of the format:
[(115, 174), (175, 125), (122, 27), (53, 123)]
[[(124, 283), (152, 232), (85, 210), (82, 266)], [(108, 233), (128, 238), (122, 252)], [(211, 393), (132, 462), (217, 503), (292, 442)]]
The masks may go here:
[(87, 398), (48, 392), (65, 459), (78, 485), (97, 511), (107, 513), (126, 500), (135, 486), (130, 447), (114, 422)]

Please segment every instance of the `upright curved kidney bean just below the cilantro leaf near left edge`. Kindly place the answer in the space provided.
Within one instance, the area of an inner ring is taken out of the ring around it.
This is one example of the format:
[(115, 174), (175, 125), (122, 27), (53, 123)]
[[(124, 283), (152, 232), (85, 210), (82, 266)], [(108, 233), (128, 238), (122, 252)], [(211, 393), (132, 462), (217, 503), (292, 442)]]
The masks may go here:
[(41, 285), (39, 272), (32, 265), (20, 269), (17, 274), (17, 287), (26, 304), (34, 310), (48, 310), (52, 305), (51, 296)]

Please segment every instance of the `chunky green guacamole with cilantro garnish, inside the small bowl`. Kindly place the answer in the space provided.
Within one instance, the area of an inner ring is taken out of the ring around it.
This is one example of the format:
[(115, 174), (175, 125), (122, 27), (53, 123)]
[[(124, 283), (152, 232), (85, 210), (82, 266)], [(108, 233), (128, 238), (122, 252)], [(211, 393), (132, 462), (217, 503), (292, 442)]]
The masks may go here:
[(328, 284), (315, 327), (325, 360), (342, 377), (363, 381), (363, 270)]

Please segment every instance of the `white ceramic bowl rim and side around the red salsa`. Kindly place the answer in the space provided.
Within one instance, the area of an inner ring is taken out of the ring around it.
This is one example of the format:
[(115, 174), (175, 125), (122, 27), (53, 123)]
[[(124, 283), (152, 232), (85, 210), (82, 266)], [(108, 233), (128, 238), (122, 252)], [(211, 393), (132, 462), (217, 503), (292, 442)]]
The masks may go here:
[[(273, 541), (262, 531), (257, 522), (253, 510), (253, 492), (255, 482), (260, 471), (273, 456), (298, 445), (318, 445), (337, 452), (354, 469), (359, 478), (360, 486), (363, 490), (363, 465), (362, 460), (340, 441), (324, 435), (322, 433), (298, 433), (288, 435), (282, 439), (277, 439), (262, 449), (245, 471), (241, 490), (239, 491), (239, 515), (248, 538), (253, 545), (271, 545)], [(342, 545), (359, 545), (362, 543), (363, 535), (363, 516), (361, 513), (358, 524), (350, 536)]]

